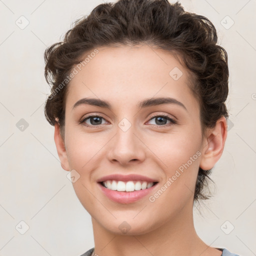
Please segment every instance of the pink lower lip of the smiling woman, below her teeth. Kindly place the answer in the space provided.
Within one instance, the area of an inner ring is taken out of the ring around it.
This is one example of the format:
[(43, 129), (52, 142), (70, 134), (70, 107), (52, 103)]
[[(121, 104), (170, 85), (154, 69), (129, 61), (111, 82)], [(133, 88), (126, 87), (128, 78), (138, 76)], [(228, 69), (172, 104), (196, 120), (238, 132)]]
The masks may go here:
[(150, 193), (154, 189), (154, 187), (157, 185), (157, 183), (149, 188), (134, 190), (132, 192), (111, 190), (102, 186), (100, 183), (98, 183), (98, 185), (102, 190), (102, 192), (111, 200), (119, 203), (131, 203), (141, 199), (142, 197)]

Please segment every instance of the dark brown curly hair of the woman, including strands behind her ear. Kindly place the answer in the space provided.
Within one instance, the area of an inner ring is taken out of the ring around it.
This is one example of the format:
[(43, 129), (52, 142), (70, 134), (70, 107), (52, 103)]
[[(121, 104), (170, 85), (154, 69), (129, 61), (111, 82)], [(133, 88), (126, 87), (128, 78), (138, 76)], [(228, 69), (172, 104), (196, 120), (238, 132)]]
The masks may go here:
[[(191, 74), (191, 91), (200, 107), (202, 135), (221, 117), (228, 117), (227, 53), (217, 45), (217, 33), (208, 18), (186, 12), (179, 2), (167, 0), (118, 0), (97, 5), (76, 20), (63, 40), (44, 52), (45, 79), (50, 95), (44, 105), (47, 121), (64, 134), (65, 100), (69, 73), (86, 52), (100, 46), (145, 43), (180, 57)], [(63, 82), (64, 81), (64, 82)], [(210, 170), (199, 167), (194, 201), (208, 199), (203, 192)], [(211, 180), (212, 181), (212, 180)]]

